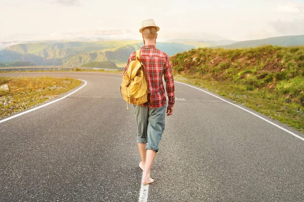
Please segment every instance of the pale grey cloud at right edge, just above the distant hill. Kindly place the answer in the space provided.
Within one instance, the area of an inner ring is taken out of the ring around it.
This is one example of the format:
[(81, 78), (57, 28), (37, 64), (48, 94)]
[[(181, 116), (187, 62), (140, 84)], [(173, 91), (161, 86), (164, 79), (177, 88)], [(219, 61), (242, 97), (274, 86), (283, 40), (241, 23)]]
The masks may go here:
[(282, 35), (304, 35), (304, 19), (297, 19), (293, 21), (281, 21), (269, 23), (272, 28)]

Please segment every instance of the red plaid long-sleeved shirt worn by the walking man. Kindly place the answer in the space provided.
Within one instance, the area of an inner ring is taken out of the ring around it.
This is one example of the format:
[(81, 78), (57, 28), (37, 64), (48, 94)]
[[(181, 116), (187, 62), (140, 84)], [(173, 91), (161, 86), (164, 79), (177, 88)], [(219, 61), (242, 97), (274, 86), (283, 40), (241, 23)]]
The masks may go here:
[[(135, 60), (135, 51), (130, 55), (128, 63), (125, 67), (127, 71), (129, 63)], [(150, 108), (159, 108), (166, 104), (166, 94), (163, 84), (163, 75), (166, 82), (166, 90), (169, 98), (168, 105), (174, 106), (174, 80), (172, 66), (169, 56), (156, 48), (154, 45), (143, 46), (140, 49), (140, 61), (144, 64), (149, 83), (149, 91), (153, 97), (153, 104)], [(123, 72), (123, 74), (125, 73)], [(147, 107), (147, 103), (142, 106)]]

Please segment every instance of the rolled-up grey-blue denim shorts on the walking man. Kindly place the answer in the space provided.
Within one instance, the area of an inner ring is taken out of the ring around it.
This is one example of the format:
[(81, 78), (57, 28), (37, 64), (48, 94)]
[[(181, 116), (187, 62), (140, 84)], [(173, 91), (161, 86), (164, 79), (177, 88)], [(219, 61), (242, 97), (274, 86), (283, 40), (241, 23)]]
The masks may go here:
[(148, 108), (135, 106), (137, 124), (137, 142), (147, 143), (146, 149), (159, 150), (159, 144), (165, 129), (166, 107)]

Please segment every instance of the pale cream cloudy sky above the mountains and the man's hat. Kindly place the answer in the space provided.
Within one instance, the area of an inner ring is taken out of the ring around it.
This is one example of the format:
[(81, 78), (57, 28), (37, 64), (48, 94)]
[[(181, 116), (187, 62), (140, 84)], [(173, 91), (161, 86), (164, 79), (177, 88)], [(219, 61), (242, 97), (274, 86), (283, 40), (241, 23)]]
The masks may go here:
[(235, 41), (304, 34), (304, 0), (1, 0), (0, 42), (17, 35), (123, 29), (153, 18), (162, 33)]

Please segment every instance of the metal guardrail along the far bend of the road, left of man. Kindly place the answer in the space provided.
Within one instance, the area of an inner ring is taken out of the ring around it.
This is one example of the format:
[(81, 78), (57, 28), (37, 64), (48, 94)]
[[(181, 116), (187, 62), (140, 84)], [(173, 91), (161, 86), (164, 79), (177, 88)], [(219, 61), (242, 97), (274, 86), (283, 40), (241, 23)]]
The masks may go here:
[[(49, 69), (51, 71), (58, 71), (61, 69), (63, 71), (64, 69), (71, 69), (72, 71), (78, 71), (80, 70), (104, 70), (104, 71), (119, 71), (119, 69), (106, 69), (106, 68), (97, 68), (97, 67), (68, 67), (68, 66), (22, 66), (22, 67), (0, 67), (0, 73), (3, 72), (13, 72), (13, 71), (20, 71), (18, 69), (29, 69), (29, 71), (33, 71), (33, 69), (39, 69), (41, 71), (44, 71), (44, 69)], [(13, 71), (12, 71), (13, 70)]]

